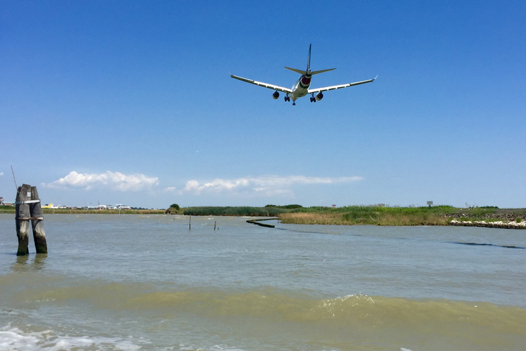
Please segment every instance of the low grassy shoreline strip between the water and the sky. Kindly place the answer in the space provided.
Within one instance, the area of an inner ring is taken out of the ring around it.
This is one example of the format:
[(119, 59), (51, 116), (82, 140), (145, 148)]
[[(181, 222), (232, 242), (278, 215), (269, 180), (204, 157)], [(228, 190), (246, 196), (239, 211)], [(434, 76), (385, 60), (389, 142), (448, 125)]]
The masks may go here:
[[(14, 207), (1, 206), (0, 213), (13, 213)], [(97, 214), (97, 215), (194, 215), (194, 216), (243, 216), (278, 217), (281, 223), (373, 226), (488, 226), (491, 228), (526, 229), (526, 208), (497, 208), (495, 206), (455, 208), (453, 206), (390, 207), (345, 206), (308, 207), (299, 205), (251, 206), (202, 206), (168, 208), (168, 210), (83, 210), (45, 208), (47, 214)]]

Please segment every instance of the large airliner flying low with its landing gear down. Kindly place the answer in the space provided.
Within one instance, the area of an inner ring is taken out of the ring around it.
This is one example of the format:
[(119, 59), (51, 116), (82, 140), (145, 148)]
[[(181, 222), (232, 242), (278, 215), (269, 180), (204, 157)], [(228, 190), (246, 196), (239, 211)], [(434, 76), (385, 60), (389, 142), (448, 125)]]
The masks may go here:
[[(231, 74), (230, 77), (232, 77), (232, 78), (234, 78), (236, 80), (241, 80), (242, 82), (247, 82), (247, 83), (255, 84), (255, 85), (258, 85), (258, 86), (264, 86), (265, 88), (269, 88), (269, 89), (275, 90), (275, 92), (272, 94), (272, 97), (275, 100), (279, 98), (278, 91), (281, 91), (282, 93), (286, 94), (285, 101), (290, 101), (290, 99), (292, 99), (292, 106), (296, 105), (296, 100), (297, 99), (299, 99), (300, 97), (304, 97), (305, 95), (310, 94), (311, 95), (310, 102), (316, 102), (316, 101), (320, 101), (321, 99), (323, 99), (323, 92), (324, 91), (336, 90), (336, 89), (341, 89), (341, 88), (347, 88), (349, 86), (355, 86), (355, 85), (360, 85), (360, 84), (371, 83), (371, 82), (374, 82), (375, 79), (378, 77), (378, 76), (376, 76), (372, 80), (362, 80), (362, 82), (354, 82), (354, 83), (349, 83), (349, 84), (340, 84), (340, 85), (334, 85), (334, 86), (324, 86), (323, 88), (309, 89), (313, 75), (318, 74), (318, 73), (324, 73), (324, 72), (334, 71), (335, 70), (335, 69), (322, 69), (321, 71), (311, 71), (311, 69), (310, 69), (310, 49), (311, 49), (311, 47), (312, 47), (312, 44), (309, 45), (309, 56), (308, 56), (308, 60), (307, 60), (307, 69), (306, 70), (292, 69), (290, 67), (285, 66), (286, 69), (289, 69), (290, 71), (293, 71), (293, 72), (301, 74), (301, 77), (298, 78), (298, 80), (292, 86), (292, 89), (284, 88), (283, 86), (277, 86), (277, 85), (273, 85), (273, 84), (258, 82), (258, 81), (255, 81), (255, 80), (249, 80), (247, 78), (238, 77), (237, 75), (233, 75), (233, 74)], [(316, 94), (316, 95), (314, 95), (314, 94)]]

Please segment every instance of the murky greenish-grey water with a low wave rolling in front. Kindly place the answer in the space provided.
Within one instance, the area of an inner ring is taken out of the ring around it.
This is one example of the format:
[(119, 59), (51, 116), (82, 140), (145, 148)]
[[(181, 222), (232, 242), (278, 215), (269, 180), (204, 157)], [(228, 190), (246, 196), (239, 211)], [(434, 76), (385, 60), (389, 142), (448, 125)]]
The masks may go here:
[(0, 350), (525, 349), (526, 231), (245, 221), (0, 215)]

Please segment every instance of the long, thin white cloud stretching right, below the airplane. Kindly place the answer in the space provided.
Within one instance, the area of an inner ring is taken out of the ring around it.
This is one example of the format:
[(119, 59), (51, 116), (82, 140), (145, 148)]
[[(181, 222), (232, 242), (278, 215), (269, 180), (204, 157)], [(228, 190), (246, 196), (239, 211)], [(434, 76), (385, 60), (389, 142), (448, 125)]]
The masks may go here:
[(306, 177), (305, 175), (289, 175), (279, 177), (277, 175), (262, 175), (259, 177), (237, 178), (224, 180), (216, 178), (212, 182), (199, 183), (197, 180), (188, 180), (184, 189), (178, 190), (170, 186), (165, 191), (175, 191), (179, 194), (194, 193), (257, 193), (263, 196), (271, 195), (294, 195), (292, 186), (312, 184), (336, 184), (349, 183), (362, 180), (362, 177)]

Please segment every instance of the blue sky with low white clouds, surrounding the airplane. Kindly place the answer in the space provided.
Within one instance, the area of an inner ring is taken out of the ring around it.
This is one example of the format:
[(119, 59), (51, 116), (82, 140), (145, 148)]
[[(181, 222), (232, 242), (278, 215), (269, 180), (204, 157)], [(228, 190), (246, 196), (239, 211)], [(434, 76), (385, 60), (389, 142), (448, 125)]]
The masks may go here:
[[(0, 196), (526, 207), (524, 1), (0, 1)], [(312, 88), (296, 106), (229, 73)]]

